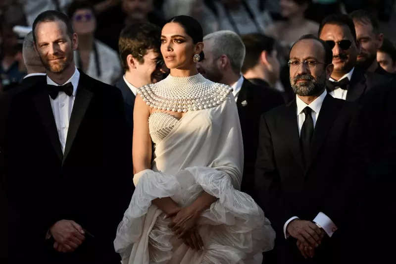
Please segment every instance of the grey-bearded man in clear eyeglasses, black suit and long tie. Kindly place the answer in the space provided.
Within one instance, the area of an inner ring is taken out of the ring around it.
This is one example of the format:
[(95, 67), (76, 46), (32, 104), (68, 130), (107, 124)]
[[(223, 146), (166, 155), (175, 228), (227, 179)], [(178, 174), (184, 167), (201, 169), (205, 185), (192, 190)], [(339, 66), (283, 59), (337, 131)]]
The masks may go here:
[(278, 263), (340, 263), (358, 106), (327, 93), (332, 56), (324, 41), (302, 36), (288, 62), (295, 99), (261, 117), (256, 201), (277, 232)]

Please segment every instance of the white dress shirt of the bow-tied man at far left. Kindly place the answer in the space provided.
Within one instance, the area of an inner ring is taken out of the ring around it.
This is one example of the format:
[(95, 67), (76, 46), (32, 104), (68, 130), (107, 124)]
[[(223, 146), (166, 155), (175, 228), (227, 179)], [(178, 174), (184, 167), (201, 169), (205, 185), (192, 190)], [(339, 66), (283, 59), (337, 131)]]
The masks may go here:
[[(58, 131), (59, 141), (60, 141), (60, 145), (62, 146), (63, 153), (65, 151), (67, 131), (69, 130), (69, 121), (70, 121), (71, 111), (74, 105), (74, 99), (76, 98), (79, 79), (80, 79), (80, 72), (76, 68), (74, 74), (70, 77), (69, 80), (67, 80), (64, 83), (66, 84), (71, 82), (71, 84), (73, 85), (72, 96), (68, 96), (64, 92), (59, 92), (58, 96), (55, 99), (49, 97), (53, 117), (55, 119), (56, 129)], [(58, 86), (58, 84), (52, 81), (48, 77), (48, 75), (47, 75), (47, 84)]]

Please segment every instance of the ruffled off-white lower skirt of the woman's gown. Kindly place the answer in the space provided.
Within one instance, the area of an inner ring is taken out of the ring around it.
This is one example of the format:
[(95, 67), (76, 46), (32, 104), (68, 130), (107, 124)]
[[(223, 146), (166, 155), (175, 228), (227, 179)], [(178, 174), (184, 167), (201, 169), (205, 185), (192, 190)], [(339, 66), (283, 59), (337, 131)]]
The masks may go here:
[[(275, 231), (253, 199), (234, 189), (229, 176), (209, 167), (176, 175), (153, 170), (135, 174), (135, 192), (118, 225), (114, 248), (122, 264), (261, 264)], [(170, 219), (151, 201), (171, 197), (180, 206), (202, 191), (218, 198), (198, 219), (204, 249), (193, 250), (168, 228)]]

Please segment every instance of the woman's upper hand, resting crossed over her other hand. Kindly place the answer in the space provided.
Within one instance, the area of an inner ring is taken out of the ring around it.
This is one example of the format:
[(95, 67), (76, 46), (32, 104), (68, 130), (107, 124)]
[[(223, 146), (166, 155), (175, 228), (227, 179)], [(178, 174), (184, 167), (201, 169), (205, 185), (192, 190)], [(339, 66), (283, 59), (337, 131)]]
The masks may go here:
[(197, 210), (192, 205), (184, 207), (172, 217), (172, 222), (168, 227), (178, 238), (182, 238), (196, 226), (200, 213), (201, 211)]

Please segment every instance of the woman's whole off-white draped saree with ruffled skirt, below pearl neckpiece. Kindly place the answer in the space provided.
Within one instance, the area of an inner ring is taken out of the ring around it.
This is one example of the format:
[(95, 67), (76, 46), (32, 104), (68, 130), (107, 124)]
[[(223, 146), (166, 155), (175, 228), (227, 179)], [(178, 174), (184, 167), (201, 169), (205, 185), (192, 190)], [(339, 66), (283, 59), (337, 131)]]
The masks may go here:
[[(178, 87), (177, 77), (169, 76), (149, 87), (153, 94), (161, 85)], [(201, 82), (212, 92), (219, 86), (200, 74), (189, 78), (187, 83)], [(187, 89), (185, 81), (179, 89)], [(114, 240), (122, 264), (258, 264), (261, 253), (273, 248), (269, 220), (249, 195), (238, 191), (244, 158), (241, 127), (232, 93), (221, 89), (216, 106), (189, 110), (180, 120), (163, 112), (150, 116), (152, 169), (134, 175), (136, 189)], [(145, 98), (142, 90), (140, 94)], [(204, 249), (196, 251), (173, 235), (170, 219), (151, 201), (171, 197), (184, 207), (202, 191), (218, 200), (198, 219)]]

